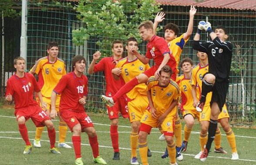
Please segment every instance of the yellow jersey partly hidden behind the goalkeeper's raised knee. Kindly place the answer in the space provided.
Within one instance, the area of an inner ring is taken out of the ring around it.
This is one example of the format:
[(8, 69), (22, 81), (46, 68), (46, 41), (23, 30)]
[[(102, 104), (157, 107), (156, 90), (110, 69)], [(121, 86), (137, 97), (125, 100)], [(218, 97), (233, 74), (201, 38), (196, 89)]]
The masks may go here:
[[(201, 67), (201, 65), (198, 64), (192, 69), (191, 85), (195, 85), (198, 88), (198, 90), (196, 90), (196, 96), (199, 97), (199, 99), (202, 91), (202, 76), (208, 71), (208, 65)], [(206, 96), (205, 106), (210, 106), (211, 99), (212, 92), (209, 92)]]

